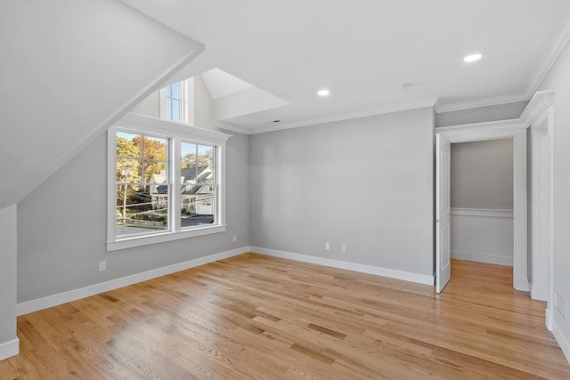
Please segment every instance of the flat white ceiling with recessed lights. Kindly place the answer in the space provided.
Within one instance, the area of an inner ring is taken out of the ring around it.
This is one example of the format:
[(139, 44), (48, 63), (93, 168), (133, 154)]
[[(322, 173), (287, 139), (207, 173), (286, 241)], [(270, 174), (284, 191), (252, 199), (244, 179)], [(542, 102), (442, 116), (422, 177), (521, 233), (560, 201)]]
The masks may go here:
[(289, 101), (225, 120), (247, 133), (529, 99), (570, 29), (570, 0), (125, 1), (206, 45), (181, 76), (220, 68)]

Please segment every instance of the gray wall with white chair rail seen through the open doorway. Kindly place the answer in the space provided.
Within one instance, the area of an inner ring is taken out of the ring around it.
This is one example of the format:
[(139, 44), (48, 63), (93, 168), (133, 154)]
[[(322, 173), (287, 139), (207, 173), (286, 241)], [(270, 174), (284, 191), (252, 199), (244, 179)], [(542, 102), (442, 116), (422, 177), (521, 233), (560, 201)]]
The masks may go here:
[(513, 266), (512, 139), (451, 144), (451, 256)]

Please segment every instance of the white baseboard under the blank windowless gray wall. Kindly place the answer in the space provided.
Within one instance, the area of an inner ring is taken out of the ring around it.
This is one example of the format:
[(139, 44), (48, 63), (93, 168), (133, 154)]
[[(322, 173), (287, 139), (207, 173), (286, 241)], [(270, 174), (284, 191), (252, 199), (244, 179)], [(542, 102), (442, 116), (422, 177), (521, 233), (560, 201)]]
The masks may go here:
[(303, 263), (314, 263), (324, 266), (330, 266), (338, 269), (346, 269), (348, 271), (360, 271), (362, 273), (375, 274), (377, 276), (389, 277), (391, 279), (403, 279), (406, 281), (417, 282), (429, 286), (434, 285), (434, 278), (432, 276), (412, 273), (409, 271), (396, 271), (393, 269), (380, 268), (371, 265), (364, 265), (358, 263), (341, 262), (339, 260), (325, 259), (322, 257), (315, 257), (310, 255), (299, 255), (290, 252), (278, 251), (275, 249), (268, 249), (262, 247), (249, 247), (251, 252), (258, 254), (281, 257), (283, 259), (296, 260)]

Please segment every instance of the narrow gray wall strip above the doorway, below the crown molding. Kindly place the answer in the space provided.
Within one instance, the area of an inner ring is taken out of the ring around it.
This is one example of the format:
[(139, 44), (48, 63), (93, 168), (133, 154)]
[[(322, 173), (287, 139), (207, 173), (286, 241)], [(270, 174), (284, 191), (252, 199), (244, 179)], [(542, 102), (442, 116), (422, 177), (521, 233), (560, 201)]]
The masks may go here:
[(485, 121), (518, 118), (520, 114), (523, 113), (526, 104), (528, 104), (528, 101), (517, 101), (514, 103), (499, 104), (497, 106), (442, 112), (436, 114), (436, 126), (482, 123)]

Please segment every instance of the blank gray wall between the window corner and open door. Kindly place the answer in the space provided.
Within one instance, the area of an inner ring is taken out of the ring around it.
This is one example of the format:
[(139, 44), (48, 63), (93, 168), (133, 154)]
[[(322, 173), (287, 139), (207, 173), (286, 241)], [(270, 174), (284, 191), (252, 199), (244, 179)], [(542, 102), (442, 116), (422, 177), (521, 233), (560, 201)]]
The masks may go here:
[(431, 108), (250, 136), (251, 245), (432, 276), (433, 139)]

